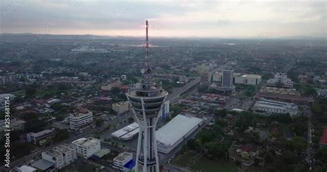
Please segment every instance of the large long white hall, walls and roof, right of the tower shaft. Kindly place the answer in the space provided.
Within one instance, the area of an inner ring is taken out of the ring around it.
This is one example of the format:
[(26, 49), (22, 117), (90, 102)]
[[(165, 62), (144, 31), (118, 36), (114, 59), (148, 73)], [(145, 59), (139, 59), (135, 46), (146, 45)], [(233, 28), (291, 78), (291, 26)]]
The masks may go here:
[(169, 153), (192, 134), (204, 120), (188, 115), (177, 115), (156, 131), (158, 151)]

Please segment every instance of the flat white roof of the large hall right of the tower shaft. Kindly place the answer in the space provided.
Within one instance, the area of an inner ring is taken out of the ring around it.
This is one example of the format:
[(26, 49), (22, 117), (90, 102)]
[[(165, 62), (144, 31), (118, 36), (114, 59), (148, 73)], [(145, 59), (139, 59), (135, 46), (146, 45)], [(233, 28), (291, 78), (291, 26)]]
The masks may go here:
[(171, 146), (202, 121), (197, 117), (177, 115), (156, 131), (157, 143)]

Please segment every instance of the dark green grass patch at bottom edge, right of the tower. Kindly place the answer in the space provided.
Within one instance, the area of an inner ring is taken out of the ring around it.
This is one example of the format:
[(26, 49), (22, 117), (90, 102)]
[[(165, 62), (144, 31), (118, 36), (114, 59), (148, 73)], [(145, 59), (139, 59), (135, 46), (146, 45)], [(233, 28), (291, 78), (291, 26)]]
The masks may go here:
[(192, 169), (196, 169), (204, 172), (233, 172), (235, 166), (225, 160), (208, 160), (206, 157), (197, 155), (193, 151), (188, 151), (184, 154), (177, 155), (172, 162), (181, 164), (183, 166), (190, 166)]

